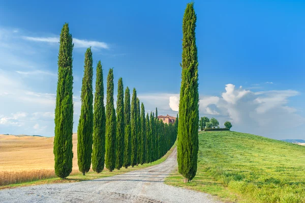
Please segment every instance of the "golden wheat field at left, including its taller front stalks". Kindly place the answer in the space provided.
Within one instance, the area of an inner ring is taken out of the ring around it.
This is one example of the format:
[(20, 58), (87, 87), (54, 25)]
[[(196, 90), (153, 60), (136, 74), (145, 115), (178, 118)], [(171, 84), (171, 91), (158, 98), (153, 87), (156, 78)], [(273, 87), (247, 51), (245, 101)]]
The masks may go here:
[[(54, 137), (0, 135), (0, 186), (53, 178)], [(73, 134), (73, 171), (77, 166), (77, 134)]]

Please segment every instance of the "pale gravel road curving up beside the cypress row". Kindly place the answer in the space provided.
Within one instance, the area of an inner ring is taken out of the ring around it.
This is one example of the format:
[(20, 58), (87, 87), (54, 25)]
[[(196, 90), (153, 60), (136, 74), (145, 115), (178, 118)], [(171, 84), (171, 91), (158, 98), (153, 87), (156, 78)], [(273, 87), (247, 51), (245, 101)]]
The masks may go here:
[(175, 149), (159, 165), (108, 178), (3, 189), (0, 190), (0, 202), (220, 203), (211, 195), (163, 183), (177, 165), (176, 156)]

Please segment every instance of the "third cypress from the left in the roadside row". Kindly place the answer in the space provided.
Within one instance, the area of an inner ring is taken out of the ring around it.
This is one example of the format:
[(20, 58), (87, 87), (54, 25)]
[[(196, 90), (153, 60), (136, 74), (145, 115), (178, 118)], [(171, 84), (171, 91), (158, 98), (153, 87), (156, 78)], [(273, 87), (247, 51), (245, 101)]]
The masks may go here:
[(105, 165), (106, 115), (104, 106), (104, 83), (101, 61), (97, 65), (96, 92), (94, 95), (93, 114), (93, 151), (92, 169), (102, 172)]

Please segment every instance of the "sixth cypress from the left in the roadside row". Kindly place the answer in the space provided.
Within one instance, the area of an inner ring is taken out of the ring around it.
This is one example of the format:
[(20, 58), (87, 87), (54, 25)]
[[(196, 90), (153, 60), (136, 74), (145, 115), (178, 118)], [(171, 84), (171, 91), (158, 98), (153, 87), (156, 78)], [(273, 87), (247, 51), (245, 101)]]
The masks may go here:
[(130, 166), (131, 158), (131, 125), (130, 125), (130, 91), (126, 88), (124, 101), (124, 118), (125, 118), (125, 148), (124, 148), (124, 163), (123, 166)]

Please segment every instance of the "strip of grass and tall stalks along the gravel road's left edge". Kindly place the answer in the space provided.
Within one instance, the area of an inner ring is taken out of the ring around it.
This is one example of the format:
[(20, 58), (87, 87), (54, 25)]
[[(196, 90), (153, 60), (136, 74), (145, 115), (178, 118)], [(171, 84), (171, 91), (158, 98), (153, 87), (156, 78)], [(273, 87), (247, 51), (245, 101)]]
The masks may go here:
[[(28, 171), (0, 171), (0, 183), (3, 183), (3, 185), (0, 185), (0, 189), (5, 188), (14, 188), (14, 187), (20, 187), (20, 186), (29, 186), (29, 185), (39, 185), (39, 184), (50, 184), (50, 183), (69, 183), (69, 182), (78, 182), (78, 181), (85, 181), (85, 180), (93, 180), (93, 179), (99, 179), (99, 178), (105, 178), (115, 175), (120, 175), (132, 170), (138, 170), (141, 168), (146, 168), (149, 166), (154, 166), (159, 163), (162, 163), (167, 159), (167, 157), (172, 153), (174, 148), (176, 147), (176, 143), (173, 145), (173, 147), (161, 158), (157, 161), (146, 163), (139, 166), (134, 167), (128, 167), (121, 168), (120, 170), (113, 170), (112, 172), (109, 172), (106, 168), (101, 173), (96, 173), (92, 170), (90, 170), (88, 173), (86, 173), (85, 176), (81, 174), (81, 172), (77, 170), (73, 170), (71, 175), (67, 177), (67, 179), (62, 180), (55, 176), (54, 170), (50, 169), (41, 169), (41, 170), (28, 170)], [(15, 182), (14, 184), (10, 184), (8, 179), (11, 180), (11, 182)], [(16, 182), (17, 180), (17, 182)], [(5, 184), (8, 183), (8, 184)], [(4, 185), (5, 184), (5, 185)]]

